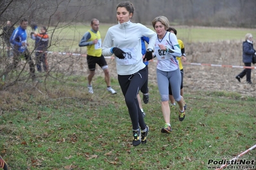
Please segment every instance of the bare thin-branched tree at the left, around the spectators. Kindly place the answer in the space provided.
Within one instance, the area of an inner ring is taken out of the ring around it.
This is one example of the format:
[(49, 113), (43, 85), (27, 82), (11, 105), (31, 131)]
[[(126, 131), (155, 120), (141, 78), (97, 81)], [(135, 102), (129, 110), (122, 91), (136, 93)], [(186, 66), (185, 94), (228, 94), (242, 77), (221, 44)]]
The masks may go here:
[[(67, 41), (65, 37), (59, 36), (65, 27), (76, 27), (76, 22), (80, 20), (82, 15), (88, 13), (88, 10), (95, 8), (95, 6), (102, 6), (108, 1), (65, 1), (65, 0), (12, 0), (12, 1), (1, 1), (1, 18), (3, 25), (6, 20), (12, 20), (13, 23), (19, 24), (21, 18), (28, 19), (31, 26), (46, 26), (47, 33), (49, 34), (49, 48), (54, 47), (61, 51), (69, 52), (72, 43), (76, 42), (74, 38), (69, 40), (69, 44), (61, 45), (63, 42)], [(87, 9), (87, 10), (85, 10)], [(2, 26), (3, 26), (2, 25)], [(28, 28), (27, 32), (30, 35), (31, 28)], [(28, 37), (29, 38), (29, 37)], [(62, 43), (61, 43), (62, 42)], [(65, 44), (65, 43), (64, 43)], [(77, 45), (77, 44), (75, 44)], [(5, 69), (8, 65), (12, 64), (12, 59), (8, 59), (5, 56), (4, 43), (0, 43), (0, 75), (4, 75)], [(30, 55), (35, 52), (35, 46), (29, 46)], [(61, 54), (61, 53), (49, 53), (49, 60), (51, 60), (51, 66), (49, 72), (44, 74), (37, 74), (38, 79), (55, 79), (56, 81), (65, 82), (67, 75), (74, 74), (74, 68), (77, 65), (81, 65), (82, 61), (77, 56), (71, 54)], [(19, 62), (19, 66), (15, 72), (11, 72), (8, 79), (4, 83), (0, 84), (1, 89), (6, 89), (20, 82), (29, 81), (30, 75), (28, 74), (26, 61)], [(83, 63), (82, 63), (83, 65)], [(13, 70), (14, 71), (14, 70)], [(46, 83), (45, 83), (46, 87)], [(46, 88), (47, 89), (47, 88)]]

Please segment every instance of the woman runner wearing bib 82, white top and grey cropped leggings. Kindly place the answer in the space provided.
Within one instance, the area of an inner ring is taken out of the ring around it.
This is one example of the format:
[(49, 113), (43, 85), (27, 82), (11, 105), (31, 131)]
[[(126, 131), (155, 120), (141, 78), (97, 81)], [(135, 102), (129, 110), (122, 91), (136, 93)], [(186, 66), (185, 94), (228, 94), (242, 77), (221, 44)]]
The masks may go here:
[[(173, 90), (173, 97), (179, 105), (178, 120), (185, 119), (185, 109), (183, 107), (183, 97), (180, 95), (181, 75), (178, 66), (177, 57), (182, 56), (180, 45), (176, 35), (169, 33), (169, 20), (164, 16), (155, 17), (152, 21), (152, 26), (157, 33), (157, 40), (155, 42), (155, 54), (157, 57), (157, 85), (161, 97), (161, 109), (164, 117), (165, 125), (161, 129), (162, 133), (171, 133), (170, 123), (170, 106), (169, 106), (169, 84)], [(149, 61), (152, 59), (147, 55), (144, 59)]]

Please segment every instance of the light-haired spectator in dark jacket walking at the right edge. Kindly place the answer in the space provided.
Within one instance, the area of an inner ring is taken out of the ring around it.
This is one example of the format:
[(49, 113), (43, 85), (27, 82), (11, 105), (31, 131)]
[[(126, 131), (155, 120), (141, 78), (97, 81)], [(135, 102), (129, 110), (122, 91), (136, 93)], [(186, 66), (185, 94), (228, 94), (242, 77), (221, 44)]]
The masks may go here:
[[(253, 48), (253, 36), (251, 33), (247, 33), (245, 35), (245, 41), (243, 42), (243, 63), (244, 66), (252, 66), (252, 57), (253, 54), (256, 54), (255, 49)], [(251, 73), (252, 73), (252, 68), (245, 68), (243, 72), (239, 73), (235, 77), (237, 81), (241, 82), (241, 79), (246, 75), (246, 82), (248, 84), (252, 84), (251, 81)]]

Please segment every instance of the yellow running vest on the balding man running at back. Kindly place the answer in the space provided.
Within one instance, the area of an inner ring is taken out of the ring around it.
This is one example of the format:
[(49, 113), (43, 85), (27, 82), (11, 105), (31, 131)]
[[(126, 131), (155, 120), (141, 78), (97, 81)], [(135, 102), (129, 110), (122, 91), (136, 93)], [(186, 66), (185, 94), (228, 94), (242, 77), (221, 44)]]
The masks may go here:
[(100, 57), (102, 54), (101, 53), (102, 52), (102, 50), (101, 50), (101, 34), (99, 33), (99, 31), (97, 31), (97, 33), (94, 33), (91, 30), (89, 30), (89, 33), (90, 33), (90, 39), (88, 41), (90, 42), (95, 39), (98, 39), (98, 43), (87, 46), (87, 55), (94, 56), (94, 57)]

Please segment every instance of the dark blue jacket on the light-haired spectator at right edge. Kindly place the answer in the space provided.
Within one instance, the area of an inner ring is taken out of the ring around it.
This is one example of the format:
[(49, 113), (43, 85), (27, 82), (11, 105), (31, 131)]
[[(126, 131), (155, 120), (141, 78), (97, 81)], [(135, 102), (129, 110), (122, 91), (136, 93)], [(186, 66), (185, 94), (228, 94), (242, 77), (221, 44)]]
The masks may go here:
[(253, 44), (247, 41), (243, 42), (243, 63), (252, 63), (254, 53)]

